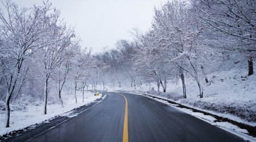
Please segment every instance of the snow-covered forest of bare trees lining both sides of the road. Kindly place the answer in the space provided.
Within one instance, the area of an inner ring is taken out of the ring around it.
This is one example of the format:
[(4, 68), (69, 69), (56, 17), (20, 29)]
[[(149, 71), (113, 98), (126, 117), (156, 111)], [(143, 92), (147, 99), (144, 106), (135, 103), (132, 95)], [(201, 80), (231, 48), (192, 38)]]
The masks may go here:
[[(179, 98), (186, 99), (187, 86), (194, 83), (200, 99), (205, 86), (213, 86), (219, 73), (232, 69), (241, 69), (241, 80), (255, 85), (254, 79), (250, 82), (255, 78), (255, 0), (164, 3), (154, 9), (150, 30), (134, 28), (133, 40), (118, 40), (100, 53), (81, 46), (86, 39), (76, 35), (50, 2), (18, 7), (3, 0), (0, 5), (0, 110), (5, 127), (10, 127), (13, 110), (26, 109), (17, 105), (40, 102), (45, 115), (49, 104), (65, 107), (63, 95), (77, 103), (78, 91), (167, 93), (172, 84), (181, 86)], [(229, 80), (237, 80), (235, 75)]]

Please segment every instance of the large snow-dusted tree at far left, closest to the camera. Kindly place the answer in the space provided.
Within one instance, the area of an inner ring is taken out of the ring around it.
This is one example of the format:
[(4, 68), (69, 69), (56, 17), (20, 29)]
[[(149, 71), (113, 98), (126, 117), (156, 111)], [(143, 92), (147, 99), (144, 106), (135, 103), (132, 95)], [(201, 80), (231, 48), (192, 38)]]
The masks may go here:
[(1, 32), (1, 61), (3, 78), (6, 86), (6, 127), (10, 122), (10, 99), (18, 93), (26, 77), (28, 66), (24, 64), (39, 48), (45, 47), (46, 42), (40, 42), (46, 37), (43, 26), (44, 17), (49, 11), (48, 3), (43, 7), (34, 6), (32, 9), (19, 9), (11, 1), (1, 1), (0, 32)]

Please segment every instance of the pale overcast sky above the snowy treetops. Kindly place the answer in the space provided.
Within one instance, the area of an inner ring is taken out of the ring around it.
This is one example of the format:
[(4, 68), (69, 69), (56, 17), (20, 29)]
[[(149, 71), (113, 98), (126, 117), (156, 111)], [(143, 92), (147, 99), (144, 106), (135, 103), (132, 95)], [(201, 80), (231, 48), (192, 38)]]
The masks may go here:
[[(31, 7), (36, 0), (13, 0), (18, 6)], [(82, 47), (92, 47), (101, 52), (104, 47), (113, 48), (117, 40), (132, 36), (129, 31), (138, 28), (147, 31), (152, 22), (154, 7), (167, 0), (52, 0), (53, 6), (61, 11), (67, 24), (75, 26), (82, 39)]]

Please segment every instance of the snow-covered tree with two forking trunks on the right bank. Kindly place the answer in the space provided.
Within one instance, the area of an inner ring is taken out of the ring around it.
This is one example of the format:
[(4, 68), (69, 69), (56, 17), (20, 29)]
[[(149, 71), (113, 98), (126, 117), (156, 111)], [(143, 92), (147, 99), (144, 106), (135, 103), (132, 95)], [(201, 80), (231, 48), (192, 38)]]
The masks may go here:
[(191, 74), (199, 85), (200, 98), (203, 97), (203, 88), (199, 79), (199, 69), (204, 53), (200, 44), (201, 25), (191, 14), (185, 2), (167, 2), (162, 9), (155, 10), (152, 27), (155, 41), (159, 43), (156, 50), (176, 66), (177, 73), (183, 82), (183, 95), (185, 83), (183, 70)]

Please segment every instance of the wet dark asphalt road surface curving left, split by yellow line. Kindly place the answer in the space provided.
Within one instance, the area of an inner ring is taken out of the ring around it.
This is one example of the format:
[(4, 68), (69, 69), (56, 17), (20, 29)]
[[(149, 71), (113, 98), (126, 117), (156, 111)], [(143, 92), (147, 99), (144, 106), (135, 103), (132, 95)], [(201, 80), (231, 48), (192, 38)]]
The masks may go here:
[(106, 94), (104, 101), (92, 108), (40, 135), (27, 137), (27, 140), (122, 141), (125, 135), (124, 98), (127, 98), (129, 141), (243, 141), (232, 133), (153, 99), (124, 93), (121, 93), (124, 97), (119, 93)]

